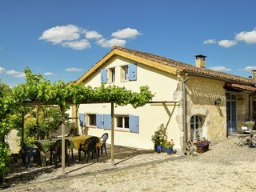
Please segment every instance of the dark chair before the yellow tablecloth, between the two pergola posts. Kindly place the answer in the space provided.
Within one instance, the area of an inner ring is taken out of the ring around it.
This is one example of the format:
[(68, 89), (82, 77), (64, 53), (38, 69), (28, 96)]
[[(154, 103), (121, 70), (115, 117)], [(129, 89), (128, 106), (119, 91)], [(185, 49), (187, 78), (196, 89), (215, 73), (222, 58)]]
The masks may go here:
[(85, 153), (86, 162), (88, 162), (88, 157), (90, 152), (92, 152), (92, 158), (96, 156), (98, 162), (97, 144), (99, 142), (98, 137), (87, 138), (84, 144), (80, 144), (78, 149), (79, 162), (81, 161), (81, 152)]

